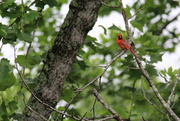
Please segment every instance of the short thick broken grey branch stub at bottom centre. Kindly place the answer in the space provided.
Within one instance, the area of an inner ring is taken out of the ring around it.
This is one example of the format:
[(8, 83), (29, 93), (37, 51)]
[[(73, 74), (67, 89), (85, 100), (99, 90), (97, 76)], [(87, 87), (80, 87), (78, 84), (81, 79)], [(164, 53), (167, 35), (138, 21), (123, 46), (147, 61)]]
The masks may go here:
[(96, 89), (93, 89), (93, 94), (96, 96), (97, 100), (112, 114), (115, 116), (117, 121), (123, 121), (123, 119), (102, 99)]

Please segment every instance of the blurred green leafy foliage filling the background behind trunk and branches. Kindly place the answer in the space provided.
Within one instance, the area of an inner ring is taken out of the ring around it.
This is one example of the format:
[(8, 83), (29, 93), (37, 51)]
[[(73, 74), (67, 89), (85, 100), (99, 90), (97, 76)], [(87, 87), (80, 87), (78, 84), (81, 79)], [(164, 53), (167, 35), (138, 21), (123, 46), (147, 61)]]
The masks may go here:
[[(0, 23), (0, 49), (10, 45), (14, 49), (12, 53), (15, 56), (10, 62), (4, 57), (4, 53), (1, 52), (0, 55), (0, 120), (21, 119), (25, 104), (30, 97), (30, 93), (22, 87), (22, 78), (33, 90), (36, 86), (34, 81), (41, 72), (46, 52), (52, 47), (63, 22), (61, 7), (67, 2), (67, 0), (21, 0), (19, 2), (6, 0), (0, 3), (1, 19), (7, 21), (7, 24)], [(104, 2), (112, 6), (119, 5), (118, 0)], [(171, 0), (136, 0), (132, 5), (125, 6), (128, 17), (141, 8), (144, 9), (130, 19), (131, 28), (136, 29), (134, 33), (136, 37), (133, 39), (144, 68), (163, 98), (167, 100), (178, 70), (172, 67), (157, 70), (154, 64), (162, 61), (165, 52), (174, 52), (179, 43), (180, 34), (177, 26), (167, 29), (167, 26), (176, 22), (180, 15), (179, 13), (174, 18), (169, 18), (173, 10), (180, 9), (179, 4)], [(112, 12), (119, 13), (120, 9), (102, 6), (99, 17), (109, 16)], [(127, 33), (120, 26), (112, 25), (105, 28), (101, 25), (100, 27), (104, 29), (104, 33), (99, 34), (98, 38), (88, 35), (74, 61), (64, 84), (60, 103), (57, 105), (60, 111), (65, 109), (65, 105), (80, 88), (98, 76), (103, 71), (103, 66), (106, 66), (121, 51), (115, 42), (117, 33), (121, 32), (128, 40)], [(167, 46), (167, 43), (170, 46)], [(149, 101), (166, 113), (146, 80), (141, 76), (133, 58), (133, 55), (127, 52), (113, 62), (101, 79), (91, 84), (73, 101), (71, 108), (67, 110), (68, 114), (83, 116), (87, 112), (86, 117), (93, 117), (93, 113), (110, 115), (99, 102), (94, 103), (92, 89), (96, 88), (109, 106), (123, 118), (130, 118), (132, 121), (142, 120), (142, 117), (149, 121), (171, 120), (145, 99), (144, 94)], [(176, 114), (180, 114), (179, 89), (180, 85), (177, 85), (171, 102)], [(51, 115), (52, 121), (60, 118), (61, 116), (56, 112)]]

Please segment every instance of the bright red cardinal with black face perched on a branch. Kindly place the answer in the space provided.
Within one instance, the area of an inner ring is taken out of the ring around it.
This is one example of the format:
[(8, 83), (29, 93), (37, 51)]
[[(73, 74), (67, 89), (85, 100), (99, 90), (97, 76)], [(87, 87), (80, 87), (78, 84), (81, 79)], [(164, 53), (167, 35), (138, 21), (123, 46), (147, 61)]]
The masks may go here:
[(118, 34), (118, 38), (116, 40), (116, 43), (122, 49), (130, 50), (136, 56), (136, 58), (138, 58), (138, 55), (134, 52), (134, 50), (132, 49), (132, 46), (122, 37), (121, 34)]

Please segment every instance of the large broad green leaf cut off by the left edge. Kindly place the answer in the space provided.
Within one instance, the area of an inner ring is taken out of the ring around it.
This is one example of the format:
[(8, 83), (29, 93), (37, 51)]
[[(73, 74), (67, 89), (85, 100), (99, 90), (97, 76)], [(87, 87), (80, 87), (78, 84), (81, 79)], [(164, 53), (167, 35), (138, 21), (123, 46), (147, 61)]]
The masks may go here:
[(7, 59), (2, 59), (0, 62), (0, 91), (13, 86), (15, 81), (12, 66)]

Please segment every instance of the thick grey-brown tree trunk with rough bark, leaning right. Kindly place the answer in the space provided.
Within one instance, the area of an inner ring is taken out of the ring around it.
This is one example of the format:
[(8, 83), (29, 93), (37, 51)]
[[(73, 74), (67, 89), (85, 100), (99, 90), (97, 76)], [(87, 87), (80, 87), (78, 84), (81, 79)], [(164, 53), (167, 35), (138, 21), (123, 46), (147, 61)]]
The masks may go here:
[[(73, 60), (83, 45), (87, 33), (94, 26), (99, 0), (73, 0), (70, 10), (62, 24), (51, 50), (48, 51), (44, 68), (38, 77), (34, 94), (43, 102), (55, 107)], [(49, 118), (52, 110), (33, 96), (27, 104), (32, 110), (25, 109), (23, 120), (41, 121), (42, 115)]]

